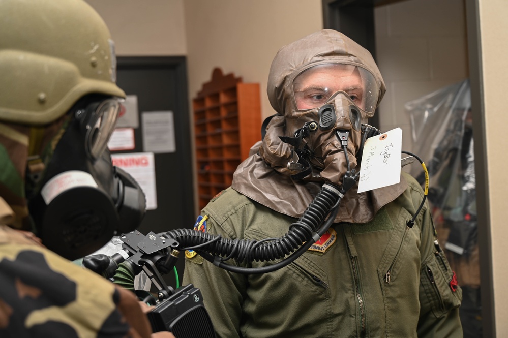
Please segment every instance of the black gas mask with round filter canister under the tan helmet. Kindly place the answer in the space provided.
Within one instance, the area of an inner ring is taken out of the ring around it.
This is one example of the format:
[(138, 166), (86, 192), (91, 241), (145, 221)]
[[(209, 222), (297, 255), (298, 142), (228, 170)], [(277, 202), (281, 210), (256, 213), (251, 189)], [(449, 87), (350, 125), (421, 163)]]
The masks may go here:
[(107, 142), (118, 99), (81, 102), (28, 196), (37, 234), (50, 250), (77, 259), (100, 249), (115, 233), (134, 230), (145, 213), (138, 183), (113, 167)]

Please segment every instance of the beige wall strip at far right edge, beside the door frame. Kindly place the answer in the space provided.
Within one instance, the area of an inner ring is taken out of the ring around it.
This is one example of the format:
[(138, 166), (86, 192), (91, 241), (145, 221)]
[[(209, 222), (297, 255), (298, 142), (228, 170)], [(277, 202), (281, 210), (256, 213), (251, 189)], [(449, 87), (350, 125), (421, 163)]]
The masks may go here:
[(506, 96), (508, 93), (508, 3), (505, 0), (479, 0), (480, 35), (482, 39), (482, 69), (485, 105), (485, 135), (487, 137), (487, 171), (489, 175), (489, 202), (492, 242), (492, 268), (496, 333), (508, 336), (508, 159), (506, 157)]

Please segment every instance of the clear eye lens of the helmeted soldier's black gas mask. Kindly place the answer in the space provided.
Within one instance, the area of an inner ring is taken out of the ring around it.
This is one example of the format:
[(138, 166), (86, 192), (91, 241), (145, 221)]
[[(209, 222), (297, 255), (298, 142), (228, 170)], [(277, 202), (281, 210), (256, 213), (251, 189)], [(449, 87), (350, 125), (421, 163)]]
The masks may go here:
[(88, 156), (98, 159), (108, 144), (113, 133), (121, 101), (119, 99), (108, 99), (93, 104), (86, 109), (89, 116), (86, 122), (85, 148)]

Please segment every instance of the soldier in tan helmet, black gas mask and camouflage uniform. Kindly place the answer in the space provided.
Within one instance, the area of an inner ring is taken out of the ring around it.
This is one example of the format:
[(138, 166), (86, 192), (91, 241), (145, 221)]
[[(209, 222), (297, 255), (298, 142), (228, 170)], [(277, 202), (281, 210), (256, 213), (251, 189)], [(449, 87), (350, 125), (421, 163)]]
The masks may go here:
[(149, 337), (130, 291), (69, 261), (145, 212), (107, 149), (125, 98), (109, 31), (81, 0), (5, 0), (0, 18), (0, 336)]

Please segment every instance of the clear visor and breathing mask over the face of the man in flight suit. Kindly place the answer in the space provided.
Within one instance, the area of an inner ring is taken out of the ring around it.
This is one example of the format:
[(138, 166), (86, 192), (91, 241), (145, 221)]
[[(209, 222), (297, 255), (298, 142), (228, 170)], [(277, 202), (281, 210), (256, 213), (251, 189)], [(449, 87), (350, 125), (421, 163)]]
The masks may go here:
[[(285, 128), (269, 137), (284, 133), (277, 136), (290, 146), (291, 177), (340, 185), (357, 165), (361, 128), (379, 99), (375, 77), (355, 64), (326, 62), (297, 71), (288, 81)], [(270, 148), (264, 148), (265, 159), (266, 151)]]

